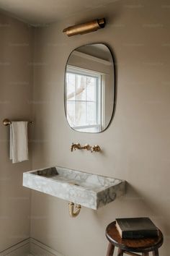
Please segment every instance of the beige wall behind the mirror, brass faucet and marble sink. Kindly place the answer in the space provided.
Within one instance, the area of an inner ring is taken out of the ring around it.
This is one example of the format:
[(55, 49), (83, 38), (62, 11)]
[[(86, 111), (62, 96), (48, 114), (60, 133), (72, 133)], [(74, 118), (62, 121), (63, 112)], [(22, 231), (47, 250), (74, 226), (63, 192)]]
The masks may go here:
[[(106, 17), (103, 30), (68, 38), (64, 27)], [(68, 216), (68, 202), (32, 192), (31, 236), (66, 256), (103, 256), (104, 230), (121, 216), (150, 216), (170, 244), (170, 34), (168, 1), (115, 1), (36, 30), (33, 168), (65, 166), (128, 182), (125, 197), (97, 211)], [(117, 106), (109, 128), (91, 135), (68, 127), (64, 69), (71, 51), (107, 43), (117, 60)], [(5, 129), (6, 131), (6, 129)], [(103, 153), (75, 151), (71, 142), (99, 144)]]

